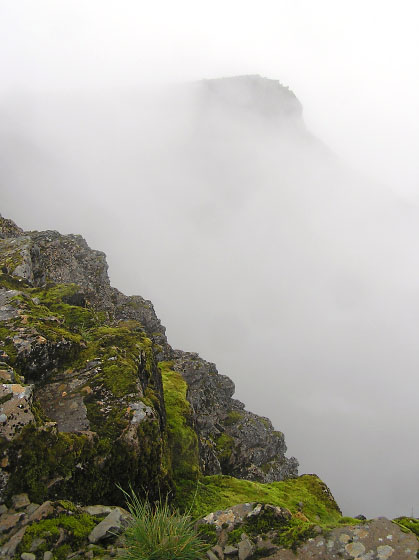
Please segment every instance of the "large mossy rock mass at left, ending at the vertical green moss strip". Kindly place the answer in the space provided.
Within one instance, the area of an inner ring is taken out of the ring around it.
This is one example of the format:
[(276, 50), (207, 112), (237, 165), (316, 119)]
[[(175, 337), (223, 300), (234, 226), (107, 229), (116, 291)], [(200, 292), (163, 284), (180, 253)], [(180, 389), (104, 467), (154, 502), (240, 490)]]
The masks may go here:
[(82, 238), (0, 221), (1, 501), (167, 489), (157, 359), (169, 347), (151, 304), (111, 288)]

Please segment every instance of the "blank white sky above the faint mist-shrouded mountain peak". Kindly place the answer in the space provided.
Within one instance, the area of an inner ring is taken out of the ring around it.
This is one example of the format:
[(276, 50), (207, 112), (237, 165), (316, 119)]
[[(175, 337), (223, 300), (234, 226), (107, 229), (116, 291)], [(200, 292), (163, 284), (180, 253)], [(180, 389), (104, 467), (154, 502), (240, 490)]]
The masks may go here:
[(2, 0), (0, 90), (262, 74), (339, 155), (416, 196), (418, 26), (416, 0)]

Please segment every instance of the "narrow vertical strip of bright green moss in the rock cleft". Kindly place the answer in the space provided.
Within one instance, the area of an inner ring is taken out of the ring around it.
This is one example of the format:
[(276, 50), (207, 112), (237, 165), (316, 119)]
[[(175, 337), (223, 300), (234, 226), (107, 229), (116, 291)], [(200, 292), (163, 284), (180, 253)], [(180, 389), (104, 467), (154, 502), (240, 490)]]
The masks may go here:
[(192, 428), (192, 411), (186, 399), (187, 384), (170, 362), (159, 364), (167, 414), (167, 432), (175, 484), (199, 476), (198, 437)]

